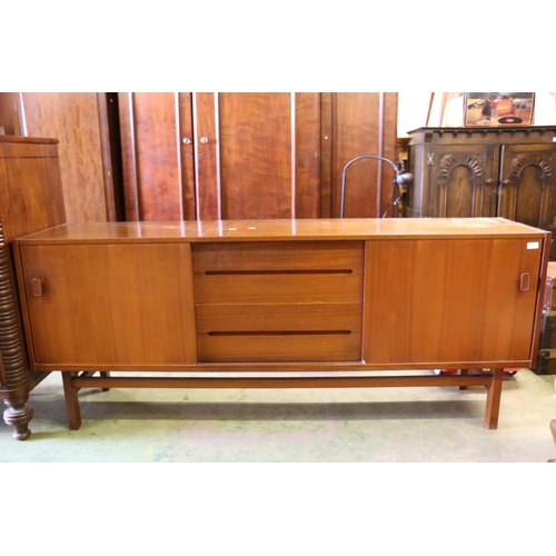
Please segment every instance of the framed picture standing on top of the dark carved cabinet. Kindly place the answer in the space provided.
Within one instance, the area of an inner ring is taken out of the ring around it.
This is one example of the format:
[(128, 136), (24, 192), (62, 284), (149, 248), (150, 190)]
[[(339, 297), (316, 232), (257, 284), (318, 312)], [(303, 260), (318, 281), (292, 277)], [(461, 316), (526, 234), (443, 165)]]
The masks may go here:
[(534, 92), (466, 92), (466, 126), (532, 126)]

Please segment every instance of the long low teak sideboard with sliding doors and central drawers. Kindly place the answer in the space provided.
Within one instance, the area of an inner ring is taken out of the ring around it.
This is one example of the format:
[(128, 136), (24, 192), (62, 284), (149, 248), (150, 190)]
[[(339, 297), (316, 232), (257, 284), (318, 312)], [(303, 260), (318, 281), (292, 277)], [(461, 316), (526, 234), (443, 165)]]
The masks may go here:
[(68, 224), (13, 251), (30, 366), (62, 373), (71, 429), (82, 387), (471, 385), (496, 428), (549, 242), (502, 218), (238, 220)]

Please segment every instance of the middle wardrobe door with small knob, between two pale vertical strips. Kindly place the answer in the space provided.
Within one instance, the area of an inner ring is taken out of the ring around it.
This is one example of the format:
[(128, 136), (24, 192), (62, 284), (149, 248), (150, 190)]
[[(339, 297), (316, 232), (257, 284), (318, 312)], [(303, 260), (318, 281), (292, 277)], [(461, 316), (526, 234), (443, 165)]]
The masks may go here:
[(193, 93), (199, 219), (320, 216), (320, 95)]

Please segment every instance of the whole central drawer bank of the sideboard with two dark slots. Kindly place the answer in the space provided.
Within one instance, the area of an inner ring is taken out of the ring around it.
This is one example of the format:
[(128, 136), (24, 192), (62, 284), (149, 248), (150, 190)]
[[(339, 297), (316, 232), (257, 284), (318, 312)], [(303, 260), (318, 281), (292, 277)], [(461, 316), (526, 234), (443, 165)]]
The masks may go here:
[(200, 363), (358, 361), (364, 244), (193, 246)]

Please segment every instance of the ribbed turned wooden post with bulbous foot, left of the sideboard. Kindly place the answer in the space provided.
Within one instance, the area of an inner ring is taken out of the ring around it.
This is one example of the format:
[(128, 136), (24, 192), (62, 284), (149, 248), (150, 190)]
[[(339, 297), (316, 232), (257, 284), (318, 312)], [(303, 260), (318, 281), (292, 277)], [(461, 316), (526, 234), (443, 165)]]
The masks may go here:
[(33, 417), (29, 399), (29, 386), (23, 364), (21, 338), (16, 315), (10, 271), (8, 266), (7, 246), (3, 226), (0, 220), (0, 355), (2, 375), (6, 381), (8, 397), (3, 400), (8, 406), (3, 420), (13, 427), (13, 437), (18, 440), (29, 438), (29, 421)]

